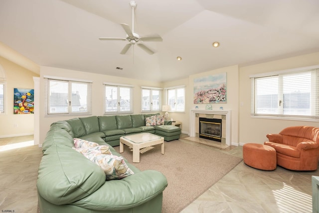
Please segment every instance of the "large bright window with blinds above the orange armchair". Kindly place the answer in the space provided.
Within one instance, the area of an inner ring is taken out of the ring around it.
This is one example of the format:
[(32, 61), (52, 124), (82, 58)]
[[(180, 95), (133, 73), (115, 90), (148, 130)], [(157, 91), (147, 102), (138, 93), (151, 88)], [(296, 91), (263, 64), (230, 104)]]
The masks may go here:
[(319, 66), (251, 76), (252, 115), (319, 118)]

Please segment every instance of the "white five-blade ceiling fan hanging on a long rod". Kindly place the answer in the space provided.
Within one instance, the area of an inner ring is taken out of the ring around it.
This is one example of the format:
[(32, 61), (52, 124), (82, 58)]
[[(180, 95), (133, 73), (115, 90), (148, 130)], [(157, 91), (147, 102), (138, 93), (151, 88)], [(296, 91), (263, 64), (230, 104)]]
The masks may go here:
[[(143, 41), (162, 41), (163, 39), (159, 35), (140, 37), (139, 34), (134, 32), (134, 9), (136, 8), (137, 3), (134, 0), (130, 1), (132, 7), (132, 30), (130, 26), (126, 23), (121, 23), (123, 29), (127, 33), (126, 38), (115, 38), (115, 37), (99, 37), (100, 40), (126, 40), (129, 41), (127, 45), (124, 46), (120, 54), (125, 54), (132, 45), (137, 44), (139, 47), (144, 49), (149, 54), (154, 54), (153, 50), (143, 44)], [(134, 48), (134, 46), (133, 46)]]

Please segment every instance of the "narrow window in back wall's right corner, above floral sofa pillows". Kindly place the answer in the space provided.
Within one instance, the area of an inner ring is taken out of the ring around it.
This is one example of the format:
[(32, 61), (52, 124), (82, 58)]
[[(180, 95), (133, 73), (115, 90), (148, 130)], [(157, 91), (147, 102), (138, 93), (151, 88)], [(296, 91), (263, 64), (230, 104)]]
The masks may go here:
[(142, 87), (142, 112), (160, 111), (161, 89)]

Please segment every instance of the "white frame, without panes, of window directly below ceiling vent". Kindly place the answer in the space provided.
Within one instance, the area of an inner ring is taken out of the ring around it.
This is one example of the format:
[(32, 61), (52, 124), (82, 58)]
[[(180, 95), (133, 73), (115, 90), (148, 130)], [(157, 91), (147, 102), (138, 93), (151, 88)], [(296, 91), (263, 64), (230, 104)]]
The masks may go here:
[[(106, 87), (114, 87), (117, 88), (117, 100), (120, 99), (121, 97), (121, 89), (130, 89), (130, 109), (128, 111), (126, 110), (121, 110), (121, 104), (120, 102), (117, 103), (117, 110), (115, 111), (106, 111), (107, 106), (106, 106)], [(103, 90), (104, 90), (104, 96), (103, 96), (103, 114), (104, 115), (112, 115), (112, 114), (133, 114), (134, 113), (134, 86), (133, 85), (128, 85), (128, 84), (115, 84), (115, 83), (103, 83)]]

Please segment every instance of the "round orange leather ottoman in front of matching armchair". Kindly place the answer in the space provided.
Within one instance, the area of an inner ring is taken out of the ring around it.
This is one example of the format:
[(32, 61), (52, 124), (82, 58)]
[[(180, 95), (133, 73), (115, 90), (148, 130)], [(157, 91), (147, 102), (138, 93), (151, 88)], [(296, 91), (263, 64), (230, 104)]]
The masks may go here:
[(244, 144), (243, 159), (245, 164), (260, 170), (274, 170), (277, 167), (276, 150), (264, 144)]

